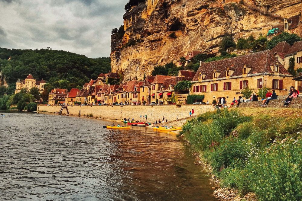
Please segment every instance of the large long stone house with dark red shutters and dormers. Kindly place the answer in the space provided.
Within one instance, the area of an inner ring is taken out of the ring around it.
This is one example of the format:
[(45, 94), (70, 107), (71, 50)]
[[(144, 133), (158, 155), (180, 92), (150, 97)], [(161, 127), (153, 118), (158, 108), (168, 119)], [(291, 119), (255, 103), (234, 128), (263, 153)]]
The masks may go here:
[[(241, 90), (249, 87), (254, 92), (262, 87), (275, 89), (277, 95), (288, 94), (294, 85), (293, 76), (271, 53), (265, 50), (248, 55), (202, 63), (196, 72), (191, 94), (203, 94), (212, 103), (226, 98), (227, 103), (238, 99)], [(246, 99), (246, 98), (245, 98)]]

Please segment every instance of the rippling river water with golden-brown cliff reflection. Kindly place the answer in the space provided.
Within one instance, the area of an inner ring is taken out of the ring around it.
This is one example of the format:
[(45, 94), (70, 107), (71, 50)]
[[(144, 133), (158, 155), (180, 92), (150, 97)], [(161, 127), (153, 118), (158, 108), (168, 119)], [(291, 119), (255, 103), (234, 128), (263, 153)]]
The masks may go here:
[[(0, 112), (2, 113), (2, 112)], [(0, 200), (215, 200), (175, 134), (103, 129), (108, 121), (0, 117)]]

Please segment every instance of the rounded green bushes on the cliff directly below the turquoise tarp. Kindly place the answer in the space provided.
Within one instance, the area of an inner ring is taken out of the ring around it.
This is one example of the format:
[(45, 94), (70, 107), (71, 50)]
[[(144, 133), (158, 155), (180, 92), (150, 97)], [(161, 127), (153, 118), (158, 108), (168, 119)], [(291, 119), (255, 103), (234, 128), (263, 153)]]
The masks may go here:
[(278, 43), (286, 41), (288, 44), (293, 45), (295, 42), (302, 40), (297, 34), (289, 34), (287, 32), (282, 32), (281, 34), (273, 37), (267, 42), (267, 49), (273, 49)]

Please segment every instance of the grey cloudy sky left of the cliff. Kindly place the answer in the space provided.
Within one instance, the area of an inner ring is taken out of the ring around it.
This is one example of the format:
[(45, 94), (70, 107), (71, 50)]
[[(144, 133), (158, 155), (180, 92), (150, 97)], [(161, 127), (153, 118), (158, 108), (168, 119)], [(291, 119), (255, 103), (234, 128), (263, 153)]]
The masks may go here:
[(0, 0), (0, 47), (109, 56), (128, 0)]

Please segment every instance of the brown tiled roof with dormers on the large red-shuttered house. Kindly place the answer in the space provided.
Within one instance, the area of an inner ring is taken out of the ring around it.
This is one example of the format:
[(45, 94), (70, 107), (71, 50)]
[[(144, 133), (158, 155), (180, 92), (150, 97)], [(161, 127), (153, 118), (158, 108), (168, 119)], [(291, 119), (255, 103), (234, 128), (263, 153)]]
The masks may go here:
[[(204, 78), (205, 80), (213, 79), (214, 69), (216, 69), (216, 72), (220, 73), (218, 78), (225, 78), (226, 70), (228, 68), (232, 68), (232, 70), (234, 70), (234, 73), (231, 77), (240, 77), (242, 76), (242, 68), (244, 65), (246, 65), (248, 68), (251, 68), (251, 70), (248, 72), (248, 75), (264, 72), (273, 73), (270, 66), (276, 62), (278, 62), (278, 59), (271, 53), (270, 50), (237, 56), (229, 59), (222, 59), (219, 61), (206, 62), (202, 63), (201, 67), (196, 72), (193, 81), (198, 81), (199, 73), (206, 74)], [(278, 64), (279, 72), (281, 74), (291, 75), (280, 62), (278, 62)]]

